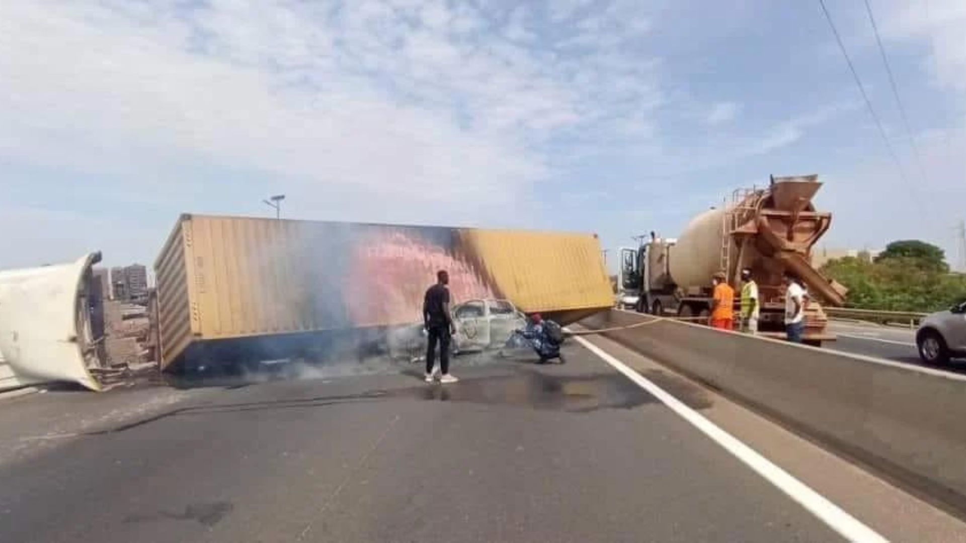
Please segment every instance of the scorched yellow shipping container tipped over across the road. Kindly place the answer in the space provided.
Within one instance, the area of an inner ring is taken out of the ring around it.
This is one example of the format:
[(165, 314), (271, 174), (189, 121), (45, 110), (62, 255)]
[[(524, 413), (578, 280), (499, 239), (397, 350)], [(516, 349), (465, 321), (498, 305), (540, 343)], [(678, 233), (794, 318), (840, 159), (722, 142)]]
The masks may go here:
[(613, 304), (593, 234), (182, 215), (155, 263), (161, 368), (311, 356), (453, 303), (511, 300), (571, 323)]

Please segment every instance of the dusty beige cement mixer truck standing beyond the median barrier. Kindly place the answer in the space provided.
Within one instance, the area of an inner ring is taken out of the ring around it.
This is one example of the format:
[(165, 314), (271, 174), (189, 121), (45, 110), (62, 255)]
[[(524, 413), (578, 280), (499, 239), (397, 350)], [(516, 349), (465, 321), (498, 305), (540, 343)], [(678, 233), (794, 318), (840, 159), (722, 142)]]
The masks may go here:
[(618, 304), (706, 322), (711, 276), (725, 272), (737, 293), (741, 270), (750, 268), (760, 297), (759, 334), (781, 337), (781, 273), (787, 270), (802, 279), (809, 294), (803, 340), (819, 345), (835, 339), (826, 330), (821, 304), (841, 305), (846, 289), (810, 264), (811, 246), (832, 222), (832, 214), (811, 203), (820, 186), (815, 175), (772, 177), (767, 187), (735, 190), (724, 206), (697, 215), (676, 240), (652, 232), (638, 247), (622, 248)]

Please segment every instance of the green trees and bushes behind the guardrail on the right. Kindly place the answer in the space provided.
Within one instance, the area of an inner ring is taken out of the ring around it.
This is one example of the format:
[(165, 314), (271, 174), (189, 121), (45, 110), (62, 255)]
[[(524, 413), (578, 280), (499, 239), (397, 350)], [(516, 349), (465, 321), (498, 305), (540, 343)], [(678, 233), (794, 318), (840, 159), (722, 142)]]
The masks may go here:
[(822, 272), (848, 287), (849, 307), (931, 312), (966, 300), (966, 274), (950, 271), (943, 249), (918, 240), (889, 243), (874, 259), (831, 260)]

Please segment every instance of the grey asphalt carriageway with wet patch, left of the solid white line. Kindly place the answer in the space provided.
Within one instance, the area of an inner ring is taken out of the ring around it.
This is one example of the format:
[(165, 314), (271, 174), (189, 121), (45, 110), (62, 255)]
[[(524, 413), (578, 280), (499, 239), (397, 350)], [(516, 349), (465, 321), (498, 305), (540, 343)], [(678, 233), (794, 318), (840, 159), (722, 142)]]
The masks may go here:
[(417, 369), (222, 384), (46, 433), (0, 462), (0, 541), (839, 540), (599, 358), (565, 354), (458, 359), (445, 387)]

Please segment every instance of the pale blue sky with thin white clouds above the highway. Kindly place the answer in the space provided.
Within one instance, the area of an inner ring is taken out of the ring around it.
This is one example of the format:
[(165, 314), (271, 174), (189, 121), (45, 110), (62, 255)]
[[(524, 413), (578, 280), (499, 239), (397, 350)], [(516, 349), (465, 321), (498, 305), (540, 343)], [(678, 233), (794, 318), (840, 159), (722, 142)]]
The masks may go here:
[(276, 193), (614, 249), (771, 174), (820, 176), (821, 244), (955, 264), (966, 2), (869, 0), (911, 130), (865, 4), (826, 5), (895, 158), (817, 0), (0, 2), (0, 269), (150, 266), (179, 214)]

